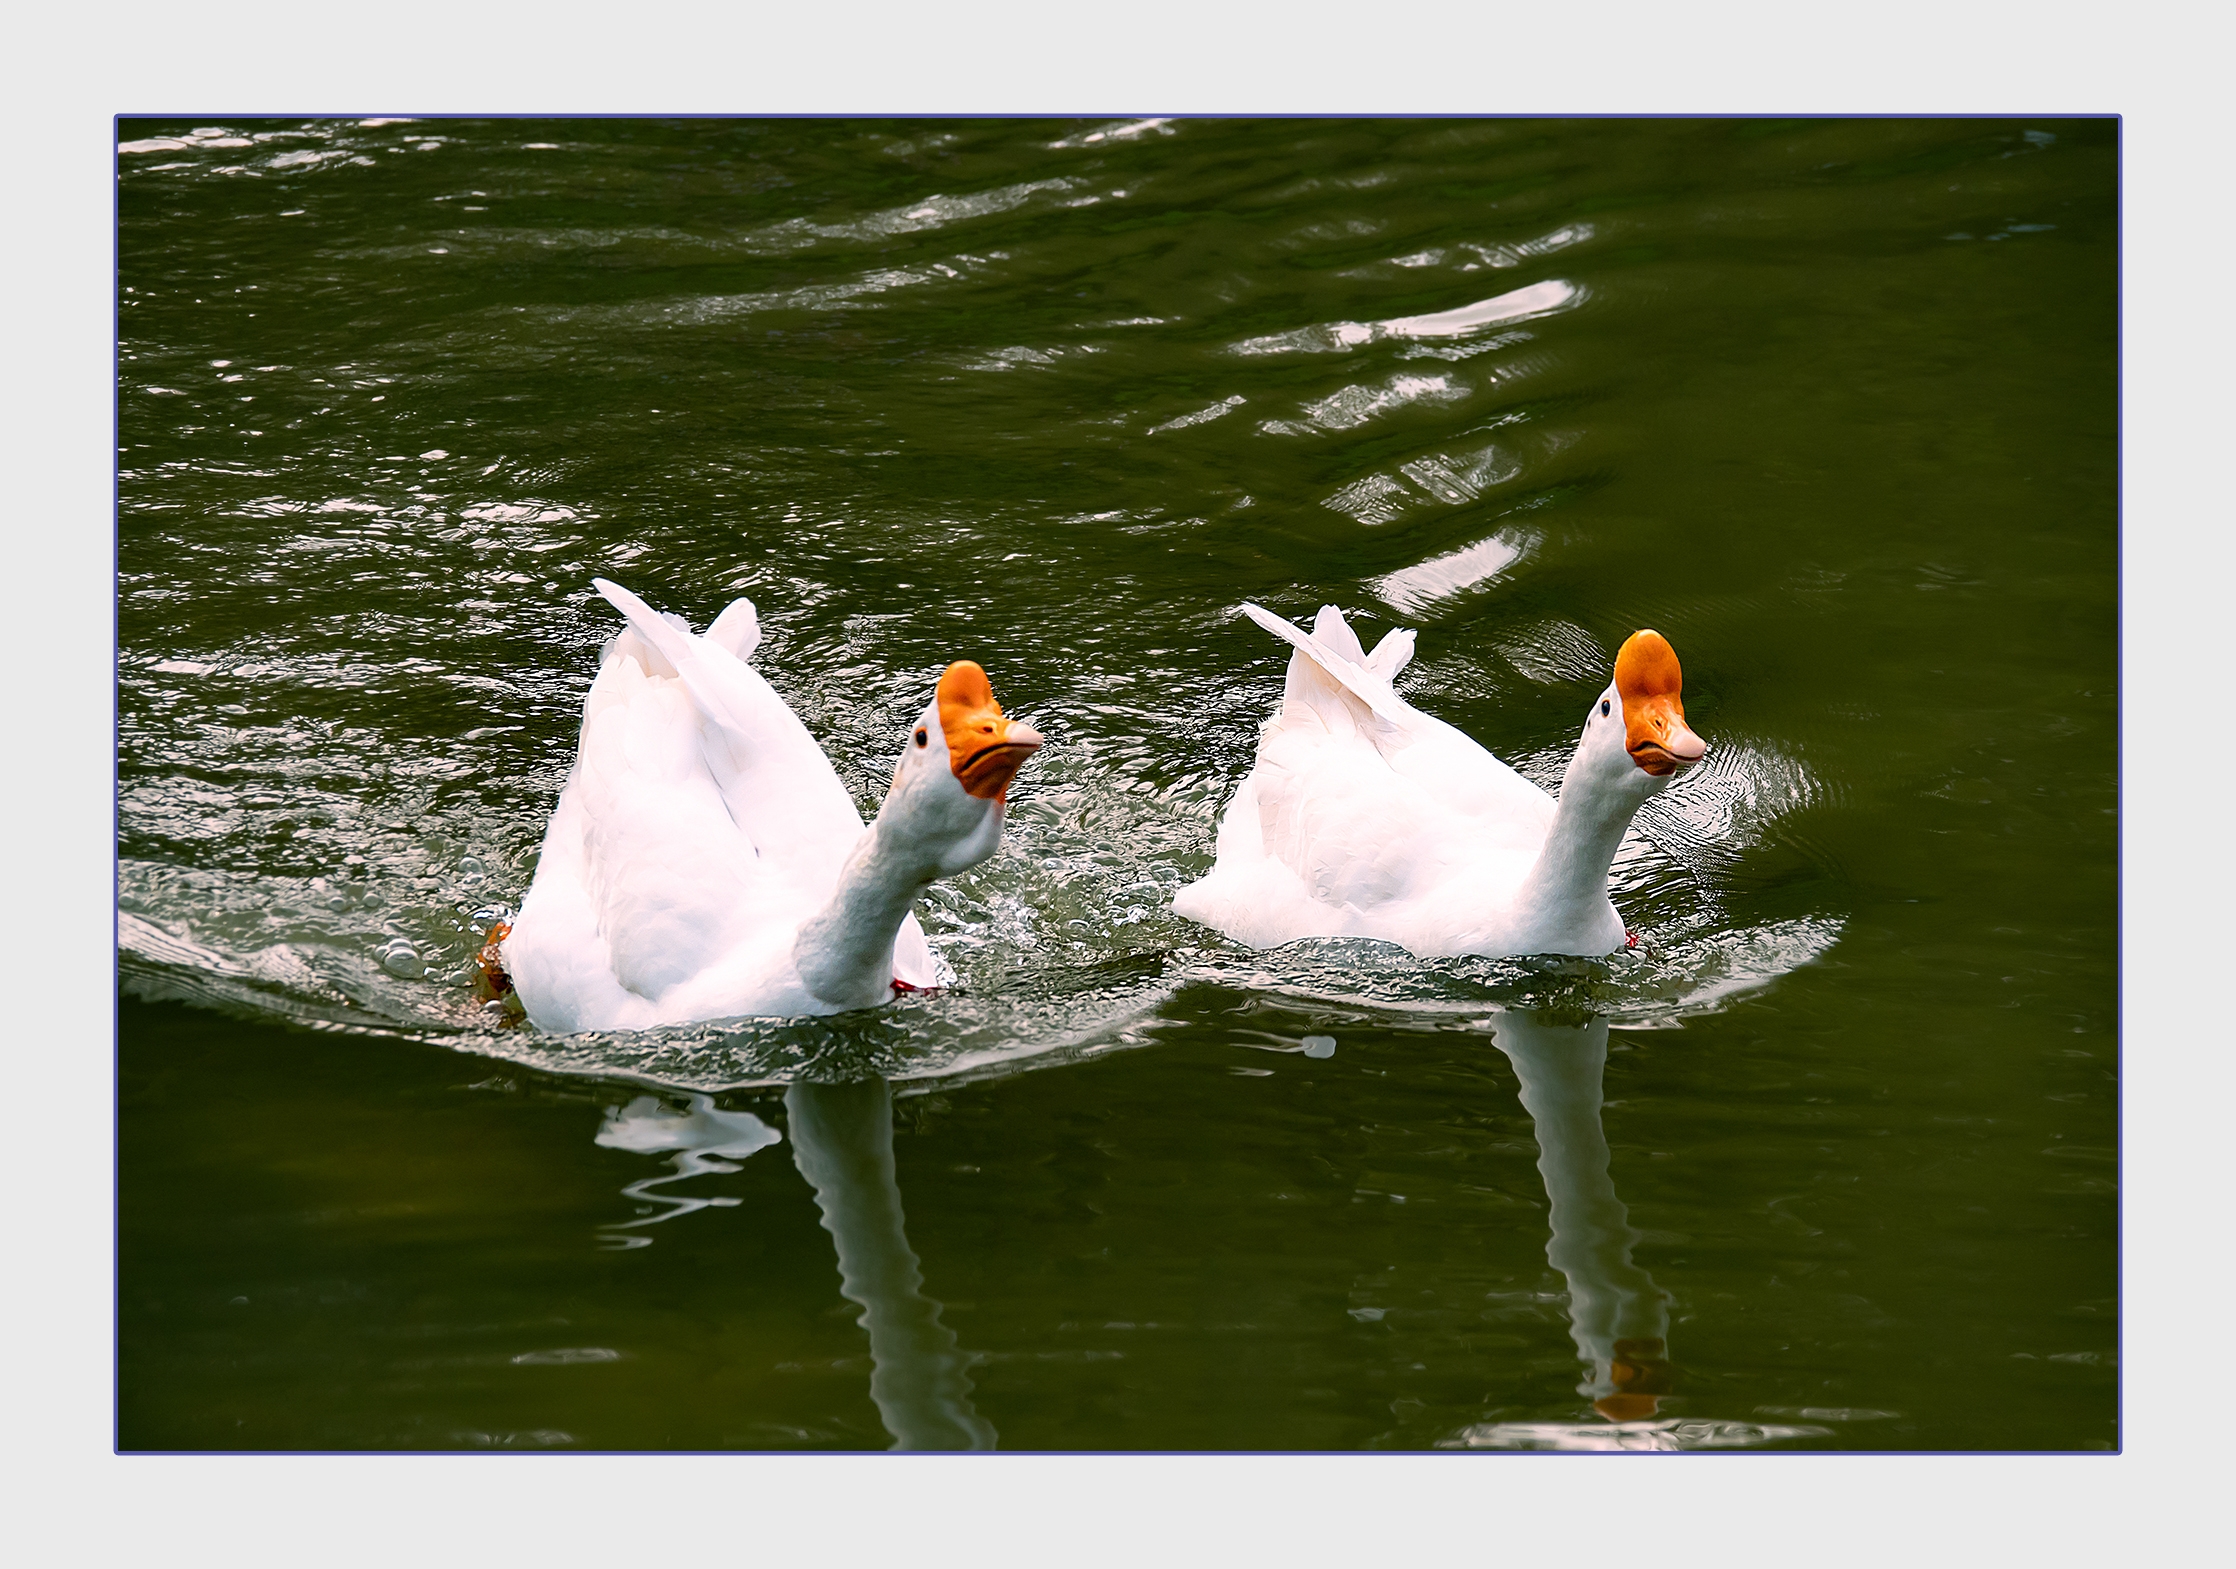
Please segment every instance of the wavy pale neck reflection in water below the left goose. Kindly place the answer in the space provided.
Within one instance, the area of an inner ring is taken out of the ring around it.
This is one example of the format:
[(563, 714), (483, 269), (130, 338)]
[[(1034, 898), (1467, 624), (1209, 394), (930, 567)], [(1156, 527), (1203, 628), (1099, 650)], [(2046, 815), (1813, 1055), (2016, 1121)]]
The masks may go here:
[(901, 1229), (892, 1173), (892, 1091), (794, 1084), (785, 1091), (792, 1158), (816, 1189), (823, 1229), (839, 1245), (839, 1290), (861, 1303), (870, 1332), (870, 1399), (894, 1448), (993, 1448), (993, 1426), (970, 1408), (966, 1359)]

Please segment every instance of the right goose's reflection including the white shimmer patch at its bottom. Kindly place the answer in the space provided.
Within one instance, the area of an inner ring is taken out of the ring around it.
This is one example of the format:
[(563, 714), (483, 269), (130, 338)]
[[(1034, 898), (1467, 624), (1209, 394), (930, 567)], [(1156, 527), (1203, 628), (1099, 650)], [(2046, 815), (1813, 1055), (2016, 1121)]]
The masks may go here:
[(1757, 1421), (1657, 1419), (1670, 1395), (1670, 1299), (1630, 1261), (1639, 1234), (1614, 1196), (1599, 1122), (1608, 1019), (1552, 1024), (1500, 1012), (1498, 1050), (1520, 1080), (1536, 1124), (1538, 1173), (1552, 1205), (1545, 1258), (1567, 1276), (1570, 1334), (1590, 1377), (1576, 1386), (1605, 1421), (1494, 1421), (1462, 1428), (1444, 1448), (1749, 1448), (1827, 1428)]

